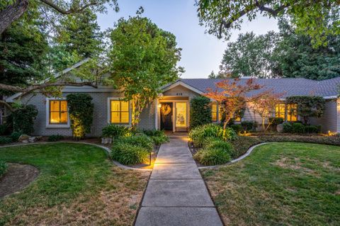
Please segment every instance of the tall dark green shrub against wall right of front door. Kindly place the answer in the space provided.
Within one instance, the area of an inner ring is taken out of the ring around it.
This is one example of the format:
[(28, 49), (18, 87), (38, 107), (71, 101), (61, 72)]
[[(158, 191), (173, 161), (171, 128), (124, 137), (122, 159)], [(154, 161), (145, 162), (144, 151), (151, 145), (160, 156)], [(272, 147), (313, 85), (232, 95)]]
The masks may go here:
[(211, 106), (209, 98), (196, 96), (190, 101), (190, 128), (211, 123)]

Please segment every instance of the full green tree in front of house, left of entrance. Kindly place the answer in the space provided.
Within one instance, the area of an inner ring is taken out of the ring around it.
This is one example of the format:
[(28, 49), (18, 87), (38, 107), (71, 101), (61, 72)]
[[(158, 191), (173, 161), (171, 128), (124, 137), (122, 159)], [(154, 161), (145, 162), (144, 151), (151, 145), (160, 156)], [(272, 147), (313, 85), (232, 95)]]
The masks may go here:
[(132, 102), (132, 128), (140, 113), (161, 92), (162, 86), (175, 81), (182, 67), (181, 49), (173, 34), (158, 28), (140, 15), (121, 18), (111, 33), (110, 79), (123, 89), (125, 100)]

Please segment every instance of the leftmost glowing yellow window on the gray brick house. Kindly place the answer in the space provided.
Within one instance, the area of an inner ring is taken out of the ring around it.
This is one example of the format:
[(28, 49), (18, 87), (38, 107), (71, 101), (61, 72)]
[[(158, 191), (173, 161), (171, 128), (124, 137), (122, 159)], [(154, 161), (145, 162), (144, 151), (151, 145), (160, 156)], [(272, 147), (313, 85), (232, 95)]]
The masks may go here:
[(50, 124), (67, 124), (67, 101), (50, 101)]

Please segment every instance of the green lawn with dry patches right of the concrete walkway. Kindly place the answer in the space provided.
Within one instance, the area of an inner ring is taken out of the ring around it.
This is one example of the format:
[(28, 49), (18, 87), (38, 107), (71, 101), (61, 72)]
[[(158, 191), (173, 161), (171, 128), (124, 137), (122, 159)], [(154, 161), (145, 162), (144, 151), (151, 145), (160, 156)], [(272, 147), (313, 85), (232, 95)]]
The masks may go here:
[(203, 177), (225, 225), (340, 225), (340, 147), (263, 145)]

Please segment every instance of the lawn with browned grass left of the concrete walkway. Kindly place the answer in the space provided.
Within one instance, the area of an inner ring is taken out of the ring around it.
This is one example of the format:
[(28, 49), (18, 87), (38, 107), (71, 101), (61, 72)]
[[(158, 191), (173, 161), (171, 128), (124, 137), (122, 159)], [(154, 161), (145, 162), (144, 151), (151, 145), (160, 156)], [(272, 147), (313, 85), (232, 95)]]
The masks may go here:
[(0, 159), (40, 170), (23, 191), (0, 199), (0, 225), (132, 225), (149, 176), (113, 166), (92, 145), (1, 148)]

